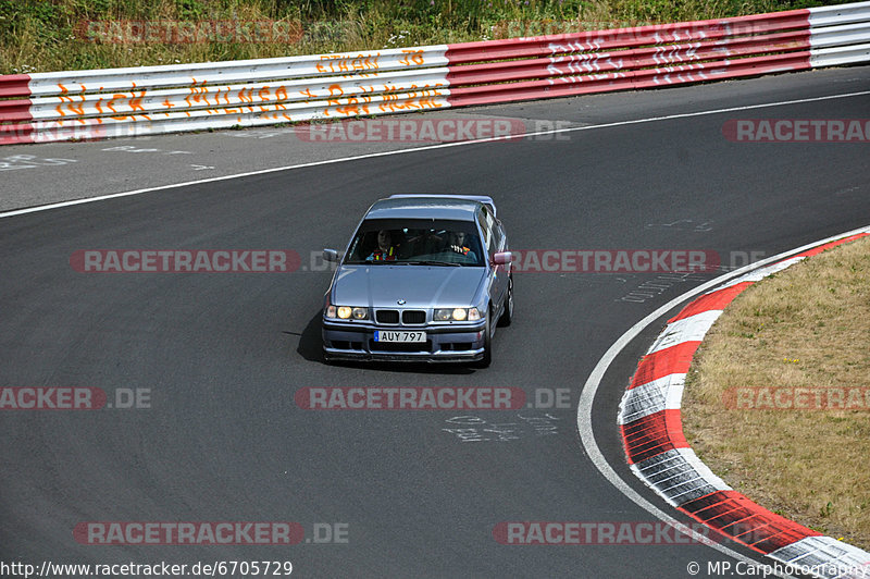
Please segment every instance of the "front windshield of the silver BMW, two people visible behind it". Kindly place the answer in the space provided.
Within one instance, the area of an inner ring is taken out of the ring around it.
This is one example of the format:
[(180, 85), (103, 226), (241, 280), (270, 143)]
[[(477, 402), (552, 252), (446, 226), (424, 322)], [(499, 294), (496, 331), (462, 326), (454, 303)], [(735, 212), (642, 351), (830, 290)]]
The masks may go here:
[(347, 264), (485, 264), (472, 221), (368, 219), (350, 243)]

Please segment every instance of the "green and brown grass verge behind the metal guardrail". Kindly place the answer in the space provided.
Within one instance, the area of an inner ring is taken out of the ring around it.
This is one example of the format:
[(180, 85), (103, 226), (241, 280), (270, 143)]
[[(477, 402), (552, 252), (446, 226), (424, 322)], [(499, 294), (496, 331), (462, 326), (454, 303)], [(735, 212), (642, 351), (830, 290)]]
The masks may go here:
[[(821, 0), (0, 0), (0, 74), (489, 40), (737, 16), (823, 3)], [(202, 34), (187, 38), (204, 38), (204, 41), (177, 41), (177, 38), (162, 41), (165, 38), (161, 39), (159, 34), (148, 39), (130, 34), (128, 28), (125, 33), (124, 26), (132, 21), (199, 26)], [(278, 23), (284, 30), (293, 32), (264, 35), (261, 40), (235, 33), (222, 36), (215, 32), (209, 36), (209, 23), (215, 21)], [(96, 27), (89, 28), (89, 23), (97, 23)]]

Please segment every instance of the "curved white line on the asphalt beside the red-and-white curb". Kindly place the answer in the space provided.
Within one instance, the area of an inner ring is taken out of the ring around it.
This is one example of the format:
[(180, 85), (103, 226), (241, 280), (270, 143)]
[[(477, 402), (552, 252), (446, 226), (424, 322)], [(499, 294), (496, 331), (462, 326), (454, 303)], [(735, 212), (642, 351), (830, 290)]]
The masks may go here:
[[(766, 266), (768, 263), (771, 263), (773, 261), (779, 261), (779, 260), (785, 259), (785, 258), (787, 258), (790, 256), (793, 256), (795, 254), (799, 254), (800, 251), (806, 251), (807, 249), (811, 249), (811, 248), (813, 248), (816, 246), (825, 244), (828, 242), (833, 242), (835, 239), (841, 239), (843, 237), (848, 237), (850, 235), (855, 235), (857, 233), (865, 233), (865, 232), (870, 232), (870, 227), (861, 227), (861, 229), (857, 229), (857, 230), (854, 230), (854, 231), (850, 231), (850, 232), (847, 232), (847, 233), (833, 235), (833, 236), (828, 237), (825, 239), (821, 239), (821, 241), (818, 241), (818, 242), (813, 242), (813, 243), (804, 245), (801, 247), (798, 247), (797, 249), (790, 249), (788, 251), (784, 251), (782, 254), (769, 257), (769, 258), (763, 259), (761, 261), (757, 261), (755, 263), (750, 263), (748, 266), (744, 266), (743, 268), (734, 270), (734, 271), (729, 272), (729, 273), (725, 273), (724, 275), (720, 275), (719, 278), (710, 280), (709, 282), (705, 282), (705, 283), (700, 284), (699, 286), (695, 287), (694, 290), (691, 290), (691, 291), (686, 292), (685, 294), (671, 299), (670, 301), (668, 301), (667, 304), (664, 304), (663, 306), (658, 308), (656, 311), (654, 311), (652, 313), (650, 313), (649, 316), (647, 316), (646, 318), (644, 318), (643, 320), (641, 320), (639, 322), (637, 322), (636, 324), (631, 327), (627, 331), (625, 331), (625, 333), (622, 334), (619, 337), (619, 340), (617, 340), (607, 349), (607, 352), (601, 357), (601, 359), (598, 360), (598, 364), (595, 366), (595, 369), (592, 371), (592, 374), (589, 374), (588, 380), (586, 380), (586, 383), (583, 385), (583, 391), (581, 392), (581, 395), (580, 395), (580, 404), (577, 405), (577, 430), (580, 431), (581, 443), (583, 444), (583, 448), (586, 451), (586, 454), (588, 455), (589, 460), (592, 460), (592, 463), (595, 465), (595, 468), (598, 469), (598, 471), (601, 473), (601, 476), (604, 476), (605, 479), (607, 479), (608, 482), (610, 482), (610, 484), (616, 486), (618, 491), (620, 491), (622, 494), (624, 494), (627, 498), (630, 498), (633, 503), (635, 503), (641, 508), (647, 510), (648, 513), (650, 513), (651, 515), (656, 516), (658, 519), (660, 519), (662, 521), (670, 522), (671, 525), (678, 526), (678, 528), (680, 528), (680, 529), (684, 529), (684, 532), (689, 534), (693, 539), (695, 539), (697, 541), (701, 541), (703, 540), (699, 534), (697, 534), (694, 530), (691, 530), (689, 528), (685, 527), (684, 525), (679, 522), (676, 519), (674, 519), (673, 517), (671, 517), (667, 513), (662, 512), (656, 505), (654, 505), (652, 503), (650, 503), (649, 501), (647, 501), (646, 498), (641, 496), (641, 494), (637, 491), (632, 489), (629, 485), (629, 483), (626, 483), (622, 478), (620, 478), (619, 475), (617, 475), (616, 470), (613, 470), (613, 468), (607, 461), (607, 459), (605, 458), (604, 454), (601, 454), (600, 448), (598, 447), (598, 445), (595, 442), (595, 434), (592, 431), (592, 405), (593, 405), (593, 402), (595, 399), (595, 394), (598, 392), (598, 386), (601, 383), (601, 379), (604, 378), (604, 375), (607, 372), (608, 368), (613, 362), (613, 360), (619, 355), (619, 353), (622, 352), (622, 349), (626, 345), (629, 345), (635, 337), (637, 337), (637, 335), (646, 327), (648, 327), (649, 324), (651, 324), (656, 320), (660, 319), (669, 310), (671, 310), (674, 307), (679, 306), (680, 304), (686, 301), (687, 299), (689, 299), (689, 298), (692, 298), (692, 297), (694, 297), (694, 296), (696, 296), (698, 294), (701, 294), (701, 293), (706, 292), (707, 290), (709, 290), (711, 287), (714, 287), (716, 285), (719, 285), (719, 284), (721, 284), (721, 283), (723, 283), (723, 282), (725, 282), (728, 280), (731, 280), (731, 279), (736, 278), (738, 275), (743, 275), (744, 273), (746, 273), (748, 271), (751, 271), (754, 269), (763, 267), (763, 266)], [(625, 385), (627, 385), (627, 383)], [(616, 421), (613, 421), (613, 423), (616, 424)], [(766, 565), (763, 563), (759, 563), (759, 562), (757, 562), (755, 559), (746, 557), (746, 556), (737, 553), (736, 551), (733, 551), (733, 550), (729, 549), (728, 546), (725, 546), (723, 544), (719, 544), (719, 543), (707, 543), (707, 544), (709, 544), (709, 546), (716, 549), (717, 551), (719, 551), (721, 553), (724, 553), (725, 555), (730, 555), (730, 556), (736, 558), (736, 559), (746, 562), (747, 564), (750, 564), (750, 565)], [(791, 577), (791, 576), (780, 575), (780, 577)]]

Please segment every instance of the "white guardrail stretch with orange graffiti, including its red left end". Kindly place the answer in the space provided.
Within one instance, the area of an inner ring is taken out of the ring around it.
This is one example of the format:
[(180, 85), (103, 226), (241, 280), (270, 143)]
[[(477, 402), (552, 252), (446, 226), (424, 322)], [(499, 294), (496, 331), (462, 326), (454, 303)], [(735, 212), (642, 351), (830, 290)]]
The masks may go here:
[(0, 96), (30, 97), (0, 100), (0, 144), (437, 109), (446, 49), (0, 76)]

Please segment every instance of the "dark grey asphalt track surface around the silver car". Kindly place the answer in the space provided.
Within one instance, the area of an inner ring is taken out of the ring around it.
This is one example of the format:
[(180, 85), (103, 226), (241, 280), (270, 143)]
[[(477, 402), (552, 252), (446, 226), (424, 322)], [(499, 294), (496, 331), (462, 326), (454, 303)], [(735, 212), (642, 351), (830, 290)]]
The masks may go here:
[[(867, 66), (483, 111), (581, 126), (865, 90)], [(514, 323), (497, 332), (493, 366), (474, 370), (324, 365), (319, 319), (328, 271), (78, 273), (70, 257), (79, 249), (294, 249), (307, 264), (320, 248), (344, 246), (384, 194), (456, 192), (492, 194), (513, 248), (708, 249), (726, 270), (751, 251), (772, 256), (870, 223), (870, 149), (731, 143), (723, 123), (868, 113), (867, 95), (811, 100), (564, 139), (373, 157), (0, 219), (0, 385), (95, 386), (110, 395), (150, 389), (151, 398), (139, 409), (3, 411), (0, 560), (291, 560), (302, 577), (688, 577), (692, 560), (706, 569), (726, 559), (698, 544), (502, 545), (493, 537), (501, 521), (656, 520), (585, 456), (580, 389), (627, 328), (716, 273), (517, 274)], [(149, 143), (181, 138), (225, 136)], [(74, 152), (84, 158), (101, 146)], [(47, 147), (21, 150), (50, 156)], [(250, 145), (241, 152), (258, 156)], [(145, 163), (160, 184), (172, 170), (148, 159), (91, 167), (89, 178), (96, 188), (121, 183)], [(26, 198), (27, 183), (62, 187), (54, 170), (4, 173), (3, 197)], [(593, 428), (617, 472), (671, 513), (629, 472), (616, 427), (622, 392), (659, 329), (648, 328), (611, 366)], [(530, 399), (540, 389), (570, 389), (571, 404), (312, 411), (294, 402), (300, 387), (351, 385), (509, 385)], [(460, 415), (467, 418), (451, 420)], [(534, 427), (545, 422), (547, 435)], [(449, 431), (456, 428), (486, 440), (463, 442)], [(73, 538), (83, 521), (296, 521), (307, 538), (315, 523), (338, 522), (348, 541), (83, 545)]]

